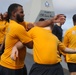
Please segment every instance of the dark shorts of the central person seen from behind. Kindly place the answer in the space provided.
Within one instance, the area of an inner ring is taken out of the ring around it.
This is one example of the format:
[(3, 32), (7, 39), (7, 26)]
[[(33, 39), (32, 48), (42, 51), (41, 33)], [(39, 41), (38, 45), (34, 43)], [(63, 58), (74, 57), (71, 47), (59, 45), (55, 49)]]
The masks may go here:
[(64, 75), (60, 63), (54, 65), (33, 64), (29, 75)]

